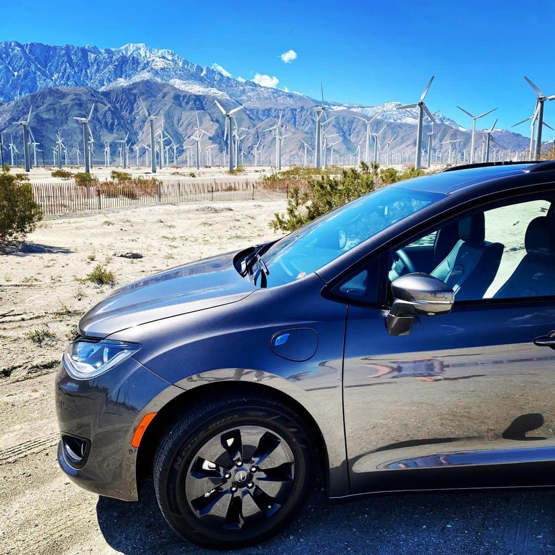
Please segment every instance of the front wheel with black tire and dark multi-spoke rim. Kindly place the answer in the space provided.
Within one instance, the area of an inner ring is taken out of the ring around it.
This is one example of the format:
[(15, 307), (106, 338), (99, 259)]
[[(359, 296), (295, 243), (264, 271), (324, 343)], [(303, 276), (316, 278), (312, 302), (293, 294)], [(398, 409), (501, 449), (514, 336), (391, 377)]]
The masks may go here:
[(234, 549), (291, 522), (314, 489), (316, 470), (303, 419), (280, 401), (248, 394), (218, 396), (174, 421), (160, 440), (153, 476), (176, 533)]

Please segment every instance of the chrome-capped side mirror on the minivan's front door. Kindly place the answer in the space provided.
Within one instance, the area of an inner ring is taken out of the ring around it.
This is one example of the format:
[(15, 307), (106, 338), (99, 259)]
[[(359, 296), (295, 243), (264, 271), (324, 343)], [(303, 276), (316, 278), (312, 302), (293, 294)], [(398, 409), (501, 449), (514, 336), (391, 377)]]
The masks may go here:
[(415, 316), (447, 314), (455, 293), (443, 281), (428, 274), (406, 274), (391, 282), (393, 304), (386, 316), (390, 335), (408, 335)]

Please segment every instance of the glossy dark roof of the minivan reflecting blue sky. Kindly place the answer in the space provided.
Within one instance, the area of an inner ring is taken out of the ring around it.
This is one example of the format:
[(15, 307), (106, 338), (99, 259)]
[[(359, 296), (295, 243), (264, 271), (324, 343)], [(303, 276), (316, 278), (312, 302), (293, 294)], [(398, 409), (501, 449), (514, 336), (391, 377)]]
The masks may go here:
[[(541, 170), (541, 166), (547, 163), (526, 162), (522, 164), (486, 165), (476, 164), (473, 166), (461, 166), (460, 169), (448, 168), (435, 174), (423, 175), (406, 181), (399, 181), (393, 186), (403, 189), (419, 191), (430, 191), (431, 193), (453, 194), (460, 189), (470, 185), (477, 185), (484, 181), (496, 178), (506, 178), (512, 175), (526, 175), (531, 168)], [(552, 163), (546, 170), (552, 169)]]

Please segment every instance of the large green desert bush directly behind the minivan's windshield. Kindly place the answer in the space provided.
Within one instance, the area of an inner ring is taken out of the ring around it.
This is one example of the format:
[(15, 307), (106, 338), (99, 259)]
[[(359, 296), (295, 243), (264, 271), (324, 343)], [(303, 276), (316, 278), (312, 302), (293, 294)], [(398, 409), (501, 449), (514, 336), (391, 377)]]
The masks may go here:
[(270, 226), (276, 231), (294, 231), (330, 210), (374, 190), (371, 173), (351, 168), (340, 176), (321, 175), (311, 178), (301, 189), (294, 185), (287, 198), (287, 214), (274, 214)]

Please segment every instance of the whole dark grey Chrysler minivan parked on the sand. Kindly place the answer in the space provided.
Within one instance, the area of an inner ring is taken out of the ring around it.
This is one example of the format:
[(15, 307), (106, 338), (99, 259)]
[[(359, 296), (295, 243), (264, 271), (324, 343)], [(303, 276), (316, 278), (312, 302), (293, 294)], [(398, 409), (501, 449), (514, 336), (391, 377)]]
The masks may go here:
[(555, 162), (379, 189), (125, 285), (56, 377), (58, 461), (233, 548), (331, 499), (555, 485)]

